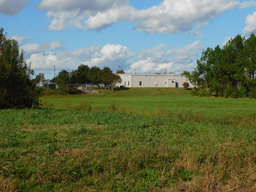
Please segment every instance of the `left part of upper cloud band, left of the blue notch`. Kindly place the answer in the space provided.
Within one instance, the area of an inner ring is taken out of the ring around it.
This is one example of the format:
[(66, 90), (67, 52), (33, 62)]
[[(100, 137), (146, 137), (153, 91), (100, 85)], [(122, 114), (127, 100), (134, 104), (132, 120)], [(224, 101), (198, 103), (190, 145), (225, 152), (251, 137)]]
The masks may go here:
[(128, 3), (129, 0), (42, 0), (37, 7), (48, 10), (47, 17), (52, 18), (49, 30), (63, 30), (74, 25), (79, 29), (99, 31), (127, 18), (131, 9)]

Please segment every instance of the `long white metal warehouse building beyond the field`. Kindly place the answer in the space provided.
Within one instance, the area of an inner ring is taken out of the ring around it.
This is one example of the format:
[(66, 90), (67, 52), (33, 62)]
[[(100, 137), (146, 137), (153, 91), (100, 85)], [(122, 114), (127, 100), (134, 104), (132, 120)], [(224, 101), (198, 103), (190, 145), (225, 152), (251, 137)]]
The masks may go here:
[[(122, 83), (117, 86), (123, 87), (183, 87), (188, 82), (194, 87), (185, 75), (172, 74), (117, 74), (122, 78)], [(156, 86), (157, 85), (157, 86)]]

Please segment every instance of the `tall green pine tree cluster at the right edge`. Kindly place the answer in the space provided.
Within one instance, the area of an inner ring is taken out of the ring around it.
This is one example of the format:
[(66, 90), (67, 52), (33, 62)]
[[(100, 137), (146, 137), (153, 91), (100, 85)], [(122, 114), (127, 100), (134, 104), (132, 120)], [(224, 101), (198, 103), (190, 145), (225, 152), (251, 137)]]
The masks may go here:
[(187, 78), (193, 83), (194, 95), (256, 98), (256, 37), (238, 34), (221, 49), (202, 51), (197, 67)]

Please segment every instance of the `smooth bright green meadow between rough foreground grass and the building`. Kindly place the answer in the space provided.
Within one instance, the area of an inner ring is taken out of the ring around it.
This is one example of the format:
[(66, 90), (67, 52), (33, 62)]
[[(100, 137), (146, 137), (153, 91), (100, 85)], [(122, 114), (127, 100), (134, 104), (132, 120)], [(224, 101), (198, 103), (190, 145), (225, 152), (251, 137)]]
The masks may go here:
[[(43, 106), (164, 116), (188, 122), (245, 126), (255, 119), (256, 100), (192, 97), (184, 88), (130, 88), (104, 95), (41, 97)], [(112, 107), (112, 108), (111, 108)], [(113, 111), (114, 109), (114, 111)]]

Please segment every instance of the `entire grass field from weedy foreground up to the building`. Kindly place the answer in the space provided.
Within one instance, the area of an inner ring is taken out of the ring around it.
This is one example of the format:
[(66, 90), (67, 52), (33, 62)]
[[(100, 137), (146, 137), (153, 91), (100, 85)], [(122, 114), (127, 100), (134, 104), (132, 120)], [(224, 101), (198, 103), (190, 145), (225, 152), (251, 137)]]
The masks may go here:
[(0, 111), (0, 191), (255, 191), (256, 100), (182, 88)]

